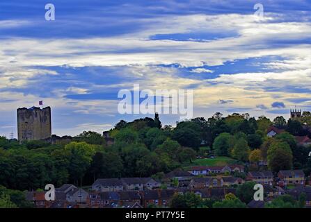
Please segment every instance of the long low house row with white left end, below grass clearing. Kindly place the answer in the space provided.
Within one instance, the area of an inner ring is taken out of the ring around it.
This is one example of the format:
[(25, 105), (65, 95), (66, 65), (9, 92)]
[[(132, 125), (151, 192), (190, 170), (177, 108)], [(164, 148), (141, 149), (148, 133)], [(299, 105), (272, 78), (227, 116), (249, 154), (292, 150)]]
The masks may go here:
[(189, 170), (189, 173), (191, 173), (194, 176), (198, 175), (210, 175), (210, 174), (221, 174), (221, 173), (232, 173), (232, 172), (239, 172), (243, 173), (244, 172), (244, 167), (241, 165), (227, 165), (227, 166), (210, 166), (210, 167), (205, 167), (205, 166), (196, 166), (196, 167), (191, 167)]

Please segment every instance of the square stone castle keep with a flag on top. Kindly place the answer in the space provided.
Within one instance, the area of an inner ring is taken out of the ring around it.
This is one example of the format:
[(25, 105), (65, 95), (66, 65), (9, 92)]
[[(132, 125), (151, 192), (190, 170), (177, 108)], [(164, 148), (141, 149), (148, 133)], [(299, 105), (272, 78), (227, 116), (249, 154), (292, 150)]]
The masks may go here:
[(51, 108), (17, 109), (17, 133), (19, 142), (51, 137)]

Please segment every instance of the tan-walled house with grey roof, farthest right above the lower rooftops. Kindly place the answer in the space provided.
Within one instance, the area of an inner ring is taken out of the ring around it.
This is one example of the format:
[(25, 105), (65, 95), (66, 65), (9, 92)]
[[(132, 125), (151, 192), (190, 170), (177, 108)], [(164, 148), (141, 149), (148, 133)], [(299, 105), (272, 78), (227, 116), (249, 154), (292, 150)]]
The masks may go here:
[(280, 185), (305, 185), (305, 173), (302, 170), (288, 170), (278, 172)]

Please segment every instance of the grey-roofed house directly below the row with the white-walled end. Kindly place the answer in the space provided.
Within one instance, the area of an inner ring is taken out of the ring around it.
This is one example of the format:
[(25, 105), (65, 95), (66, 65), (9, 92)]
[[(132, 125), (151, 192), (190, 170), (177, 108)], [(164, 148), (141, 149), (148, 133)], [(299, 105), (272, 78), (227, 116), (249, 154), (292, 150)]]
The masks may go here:
[(191, 189), (223, 187), (223, 179), (221, 177), (192, 178), (189, 187)]

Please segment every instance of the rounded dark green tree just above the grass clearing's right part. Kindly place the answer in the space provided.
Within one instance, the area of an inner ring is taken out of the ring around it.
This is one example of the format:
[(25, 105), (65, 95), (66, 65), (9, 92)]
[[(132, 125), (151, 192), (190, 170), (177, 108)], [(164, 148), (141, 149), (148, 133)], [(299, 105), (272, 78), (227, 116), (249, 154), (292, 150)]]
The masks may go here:
[(229, 133), (221, 133), (214, 140), (213, 148), (216, 155), (228, 156), (234, 146), (234, 137)]

